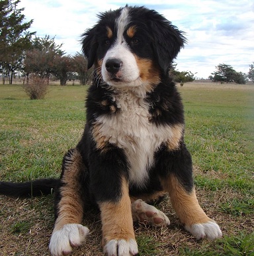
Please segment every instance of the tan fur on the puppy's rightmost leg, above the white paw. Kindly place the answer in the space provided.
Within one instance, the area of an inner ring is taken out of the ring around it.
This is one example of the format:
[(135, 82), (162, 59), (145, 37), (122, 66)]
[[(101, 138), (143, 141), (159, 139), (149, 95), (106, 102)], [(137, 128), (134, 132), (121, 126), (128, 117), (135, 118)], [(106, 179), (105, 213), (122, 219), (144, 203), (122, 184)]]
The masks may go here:
[(211, 221), (198, 204), (194, 189), (191, 193), (185, 191), (173, 174), (166, 179), (161, 179), (161, 184), (169, 192), (173, 208), (183, 224), (192, 225)]

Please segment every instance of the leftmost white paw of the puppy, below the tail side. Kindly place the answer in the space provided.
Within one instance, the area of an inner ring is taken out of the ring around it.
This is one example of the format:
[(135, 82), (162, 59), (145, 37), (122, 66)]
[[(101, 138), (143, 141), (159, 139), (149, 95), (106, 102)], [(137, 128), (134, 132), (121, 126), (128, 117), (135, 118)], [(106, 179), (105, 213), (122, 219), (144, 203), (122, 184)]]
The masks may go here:
[(54, 231), (50, 239), (50, 253), (53, 256), (69, 255), (73, 247), (85, 241), (89, 229), (80, 224), (66, 224), (62, 229)]

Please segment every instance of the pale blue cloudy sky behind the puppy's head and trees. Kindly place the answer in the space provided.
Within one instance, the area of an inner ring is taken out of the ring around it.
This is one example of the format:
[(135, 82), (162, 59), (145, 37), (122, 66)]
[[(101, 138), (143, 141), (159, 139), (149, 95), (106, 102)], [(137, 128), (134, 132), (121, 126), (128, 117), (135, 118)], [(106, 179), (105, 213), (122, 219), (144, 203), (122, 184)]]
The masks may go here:
[(180, 71), (190, 70), (196, 78), (208, 78), (221, 63), (237, 72), (249, 71), (254, 62), (253, 0), (21, 0), (30, 31), (37, 36), (56, 36), (67, 54), (81, 52), (81, 34), (97, 23), (97, 13), (124, 5), (155, 9), (185, 31), (188, 44), (175, 61)]

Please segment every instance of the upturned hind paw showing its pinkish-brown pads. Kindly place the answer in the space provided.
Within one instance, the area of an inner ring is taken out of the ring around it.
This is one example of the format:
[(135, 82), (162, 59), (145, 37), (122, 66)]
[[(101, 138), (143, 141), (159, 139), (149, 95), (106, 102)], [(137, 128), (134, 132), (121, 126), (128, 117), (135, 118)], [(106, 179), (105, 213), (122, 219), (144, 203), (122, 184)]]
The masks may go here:
[(132, 218), (138, 222), (144, 222), (149, 225), (155, 225), (157, 227), (169, 225), (169, 218), (163, 214), (160, 210), (146, 204), (141, 199), (132, 203)]

